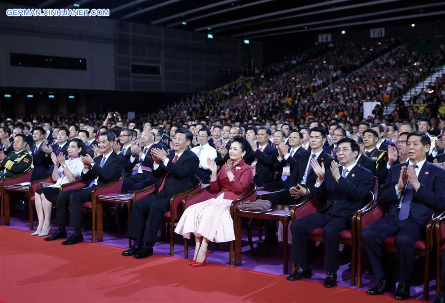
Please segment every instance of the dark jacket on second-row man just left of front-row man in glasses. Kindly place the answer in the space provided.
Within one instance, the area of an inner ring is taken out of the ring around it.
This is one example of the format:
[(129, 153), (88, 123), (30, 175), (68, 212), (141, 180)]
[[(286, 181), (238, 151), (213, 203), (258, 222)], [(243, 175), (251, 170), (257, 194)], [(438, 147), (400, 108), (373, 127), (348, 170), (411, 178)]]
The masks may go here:
[[(308, 165), (309, 159), (312, 156), (312, 152), (305, 152), (304, 154), (301, 154), (298, 157), (297, 165), (295, 165), (291, 169), (291, 174), (289, 178), (287, 178), (289, 181), (287, 183), (287, 190), (291, 189), (292, 187), (296, 186), (301, 182), (303, 179), (303, 176), (306, 172), (306, 166)], [(324, 163), (324, 167), (326, 170), (331, 167), (331, 162), (334, 160), (333, 157), (331, 157), (329, 154), (327, 154), (324, 151), (321, 151), (320, 155), (317, 157), (318, 164), (321, 165), (321, 163)], [(315, 182), (317, 180), (317, 175), (313, 172), (313, 169), (309, 173), (309, 175), (306, 177), (306, 185), (305, 188), (309, 189), (310, 192), (313, 192), (315, 190)]]

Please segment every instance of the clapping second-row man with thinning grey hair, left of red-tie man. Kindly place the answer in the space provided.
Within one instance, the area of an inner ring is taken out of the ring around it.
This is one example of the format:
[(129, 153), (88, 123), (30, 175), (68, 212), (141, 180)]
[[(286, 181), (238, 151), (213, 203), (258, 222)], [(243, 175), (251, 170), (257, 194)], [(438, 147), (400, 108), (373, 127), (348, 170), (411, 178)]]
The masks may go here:
[(151, 167), (153, 167), (153, 158), (151, 151), (153, 148), (167, 150), (162, 143), (154, 144), (154, 134), (146, 129), (140, 135), (140, 144), (134, 142), (131, 146), (132, 155), (126, 159), (126, 170), (130, 174), (124, 179), (122, 192), (127, 193), (138, 189), (146, 188), (156, 183)]

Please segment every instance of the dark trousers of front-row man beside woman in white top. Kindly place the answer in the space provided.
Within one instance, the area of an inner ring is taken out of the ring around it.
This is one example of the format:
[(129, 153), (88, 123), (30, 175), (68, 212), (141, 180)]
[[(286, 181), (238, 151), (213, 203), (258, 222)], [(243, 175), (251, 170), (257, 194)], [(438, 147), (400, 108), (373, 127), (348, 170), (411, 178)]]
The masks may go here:
[(57, 198), (56, 223), (58, 225), (66, 224), (68, 204), (70, 204), (70, 226), (81, 228), (82, 204), (91, 201), (91, 190), (93, 188), (62, 191)]

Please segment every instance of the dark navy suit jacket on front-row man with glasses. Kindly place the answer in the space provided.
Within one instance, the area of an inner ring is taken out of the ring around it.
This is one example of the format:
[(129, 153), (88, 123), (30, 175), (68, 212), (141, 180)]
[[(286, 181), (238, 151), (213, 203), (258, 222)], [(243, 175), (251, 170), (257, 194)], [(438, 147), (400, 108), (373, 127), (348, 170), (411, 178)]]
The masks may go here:
[[(340, 167), (340, 170), (342, 169), (343, 167)], [(340, 177), (338, 182), (332, 177), (331, 170), (326, 170), (323, 183), (315, 188), (317, 200), (326, 201), (320, 212), (331, 211), (334, 216), (351, 219), (354, 212), (365, 205), (365, 198), (372, 189), (372, 183), (372, 173), (357, 164), (346, 178)]]

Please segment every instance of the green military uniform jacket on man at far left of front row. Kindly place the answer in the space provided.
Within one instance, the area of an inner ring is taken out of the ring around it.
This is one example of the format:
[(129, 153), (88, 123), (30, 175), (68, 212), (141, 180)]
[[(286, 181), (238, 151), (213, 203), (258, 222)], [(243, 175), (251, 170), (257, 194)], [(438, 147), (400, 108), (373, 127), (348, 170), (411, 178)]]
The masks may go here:
[(23, 174), (31, 169), (33, 156), (28, 151), (10, 152), (1, 161), (0, 180), (11, 178)]

